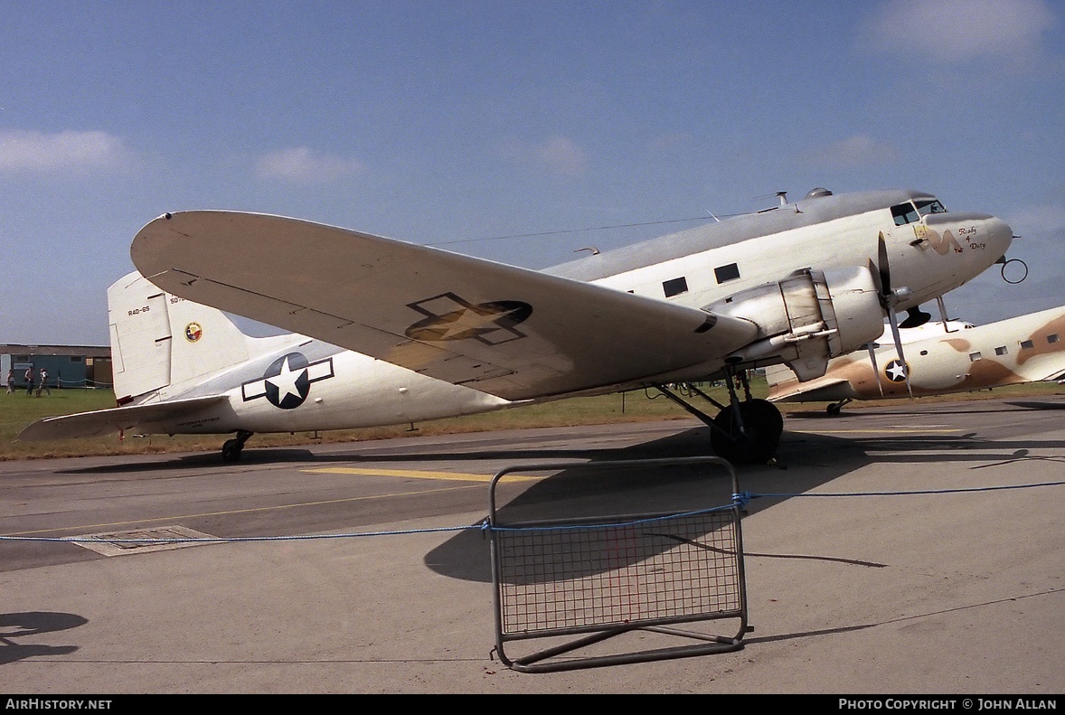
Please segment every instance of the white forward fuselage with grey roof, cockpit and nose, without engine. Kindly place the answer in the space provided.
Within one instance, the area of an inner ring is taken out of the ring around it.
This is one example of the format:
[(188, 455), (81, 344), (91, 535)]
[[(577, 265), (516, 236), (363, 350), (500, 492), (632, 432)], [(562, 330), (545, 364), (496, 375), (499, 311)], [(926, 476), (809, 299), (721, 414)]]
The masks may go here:
[[(897, 304), (905, 310), (979, 275), (1010, 246), (1010, 227), (987, 214), (920, 214), (914, 208), (899, 217), (908, 223), (897, 224), (895, 214), (901, 211), (894, 214), (892, 207), (914, 201), (935, 197), (913, 191), (818, 196), (587, 256), (547, 272), (704, 308), (801, 267), (875, 264), (883, 234), (894, 285), (912, 291)], [(671, 283), (679, 278), (683, 283)]]

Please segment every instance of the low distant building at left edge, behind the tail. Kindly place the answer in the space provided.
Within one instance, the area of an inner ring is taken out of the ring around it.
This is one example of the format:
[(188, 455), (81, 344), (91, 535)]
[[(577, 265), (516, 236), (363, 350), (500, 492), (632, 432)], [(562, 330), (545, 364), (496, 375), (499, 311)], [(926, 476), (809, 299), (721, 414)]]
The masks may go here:
[(26, 371), (33, 369), (36, 385), (40, 369), (48, 373), (48, 386), (111, 387), (111, 348), (96, 345), (0, 345), (0, 378), (15, 371), (15, 385), (26, 389)]

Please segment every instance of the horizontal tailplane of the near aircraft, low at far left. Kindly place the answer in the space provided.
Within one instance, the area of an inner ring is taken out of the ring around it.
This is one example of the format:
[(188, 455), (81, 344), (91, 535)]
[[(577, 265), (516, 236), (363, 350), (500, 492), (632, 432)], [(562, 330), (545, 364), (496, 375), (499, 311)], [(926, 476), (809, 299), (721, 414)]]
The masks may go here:
[(209, 395), (191, 400), (173, 400), (148, 405), (98, 409), (64, 417), (46, 417), (26, 427), (19, 433), (18, 438), (24, 442), (37, 442), (75, 437), (97, 437), (119, 430), (134, 430), (141, 425), (168, 422), (192, 415), (208, 405), (224, 400), (227, 400), (225, 395)]

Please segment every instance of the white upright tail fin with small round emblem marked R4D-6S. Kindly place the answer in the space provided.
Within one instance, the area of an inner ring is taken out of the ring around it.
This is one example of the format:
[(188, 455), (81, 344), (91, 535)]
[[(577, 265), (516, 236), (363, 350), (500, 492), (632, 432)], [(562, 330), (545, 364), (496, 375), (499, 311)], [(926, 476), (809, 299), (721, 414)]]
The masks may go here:
[(220, 310), (164, 293), (135, 271), (108, 289), (108, 313), (119, 404), (180, 392), (255, 352), (253, 339)]

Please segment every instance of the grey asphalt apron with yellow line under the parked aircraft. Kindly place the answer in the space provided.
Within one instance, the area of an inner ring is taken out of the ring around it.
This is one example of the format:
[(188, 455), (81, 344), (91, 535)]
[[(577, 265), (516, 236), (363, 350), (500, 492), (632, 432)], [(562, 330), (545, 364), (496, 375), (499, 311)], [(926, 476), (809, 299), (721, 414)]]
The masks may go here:
[[(700, 423), (678, 420), (306, 449), (252, 439), (239, 465), (0, 462), (3, 536), (337, 537), (110, 551), (4, 540), (0, 690), (1062, 692), (1062, 397), (788, 417), (781, 466), (738, 468), (742, 490), (772, 494), (742, 521), (754, 627), (742, 650), (554, 673), (501, 664), (489, 549), (472, 529), (489, 477), (706, 444)], [(731, 493), (682, 472), (568, 471), (501, 497), (624, 514)], [(388, 534), (351, 536), (367, 532)]]

